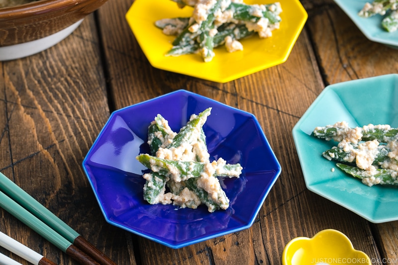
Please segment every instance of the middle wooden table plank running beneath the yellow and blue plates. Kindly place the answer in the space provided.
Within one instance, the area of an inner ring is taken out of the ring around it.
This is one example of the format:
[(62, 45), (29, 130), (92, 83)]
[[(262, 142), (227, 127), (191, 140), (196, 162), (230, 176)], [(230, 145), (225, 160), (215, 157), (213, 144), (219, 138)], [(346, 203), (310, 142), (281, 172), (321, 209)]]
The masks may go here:
[[(317, 10), (323, 1), (310, 3)], [(127, 12), (131, 4), (131, 0), (109, 1), (105, 4), (106, 8), (99, 12), (100, 21), (103, 21), (100, 32), (105, 61), (112, 77), (109, 86), (114, 109), (181, 88), (197, 92), (254, 113), (283, 168), (250, 229), (178, 250), (137, 238), (140, 262), (148, 265), (160, 262), (187, 265), (280, 264), (283, 248), (292, 238), (312, 237), (326, 228), (346, 233), (355, 248), (365, 251), (372, 258), (379, 258), (369, 223), (309, 192), (302, 177), (291, 132), (299, 117), (330, 82), (330, 78), (325, 78), (324, 73), (320, 72), (323, 65), (318, 66), (318, 54), (312, 47), (312, 31), (309, 34), (303, 31), (286, 63), (233, 82), (218, 84), (150, 66), (124, 17), (115, 16)], [(314, 23), (314, 20), (311, 21)], [(330, 35), (332, 28), (327, 30), (324, 34)], [(329, 38), (328, 42), (331, 41)], [(328, 48), (336, 49), (330, 43), (328, 45)], [(335, 216), (347, 218), (336, 219)], [(363, 241), (364, 236), (369, 240)]]

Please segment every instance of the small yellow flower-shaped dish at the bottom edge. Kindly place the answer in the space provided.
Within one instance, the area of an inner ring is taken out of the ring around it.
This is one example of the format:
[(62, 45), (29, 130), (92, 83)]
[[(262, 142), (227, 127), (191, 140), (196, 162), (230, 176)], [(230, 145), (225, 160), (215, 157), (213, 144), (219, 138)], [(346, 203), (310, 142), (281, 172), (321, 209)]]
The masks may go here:
[(346, 235), (334, 229), (318, 232), (312, 238), (291, 240), (282, 254), (283, 265), (372, 265), (370, 258), (355, 250)]

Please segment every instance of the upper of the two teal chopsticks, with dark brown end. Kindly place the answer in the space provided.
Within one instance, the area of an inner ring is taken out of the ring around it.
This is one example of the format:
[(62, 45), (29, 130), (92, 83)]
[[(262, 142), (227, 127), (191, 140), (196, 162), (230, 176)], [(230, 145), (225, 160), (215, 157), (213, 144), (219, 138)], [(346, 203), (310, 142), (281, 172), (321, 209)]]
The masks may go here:
[[(54, 231), (54, 233), (59, 234), (63, 240), (68, 241), (70, 244), (73, 244), (70, 247), (72, 247), (74, 252), (81, 254), (83, 253), (85, 256), (92, 257), (101, 265), (116, 265), (113, 261), (111, 261), (103, 253), (101, 253), (96, 247), (94, 247), (90, 242), (88, 242), (83, 236), (81, 236), (79, 233), (69, 227), (65, 222), (63, 222), (55, 214), (49, 211), (46, 207), (41, 205), (32, 196), (26, 193), (26, 191), (24, 191), (2, 173), (0, 173), (0, 190), (10, 196), (13, 200), (21, 204), (23, 207), (25, 207), (28, 210), (28, 213), (31, 213), (33, 217), (35, 217), (36, 219), (40, 218), (39, 221), (47, 225), (48, 228)], [(77, 253), (76, 255), (78, 255)]]

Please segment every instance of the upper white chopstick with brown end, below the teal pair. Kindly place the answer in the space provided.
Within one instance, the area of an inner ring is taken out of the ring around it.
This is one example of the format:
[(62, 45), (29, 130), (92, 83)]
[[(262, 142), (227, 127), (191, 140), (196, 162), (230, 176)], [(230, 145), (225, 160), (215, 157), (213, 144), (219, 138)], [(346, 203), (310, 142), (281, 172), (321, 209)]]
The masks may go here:
[(0, 232), (0, 246), (18, 255), (19, 257), (30, 262), (33, 265), (56, 265), (39, 253), (35, 252), (32, 249), (29, 249), (22, 243), (19, 243), (15, 239), (7, 236), (2, 232)]

